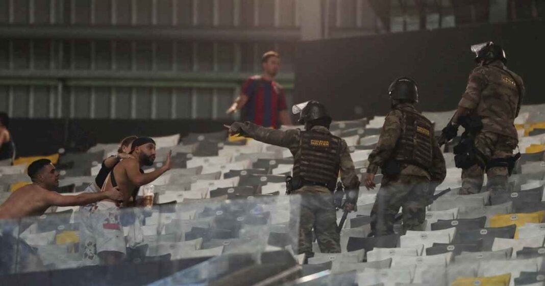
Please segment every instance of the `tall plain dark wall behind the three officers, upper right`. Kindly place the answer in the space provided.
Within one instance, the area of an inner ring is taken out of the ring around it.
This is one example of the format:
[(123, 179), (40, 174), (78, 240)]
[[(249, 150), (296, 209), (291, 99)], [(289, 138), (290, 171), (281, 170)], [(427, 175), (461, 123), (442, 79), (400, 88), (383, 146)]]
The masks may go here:
[(301, 42), (294, 102), (324, 102), (337, 120), (385, 115), (389, 84), (410, 76), (419, 83), (423, 111), (452, 110), (475, 67), (470, 46), (492, 40), (523, 77), (524, 104), (542, 104), (544, 34), (545, 22), (518, 22)]

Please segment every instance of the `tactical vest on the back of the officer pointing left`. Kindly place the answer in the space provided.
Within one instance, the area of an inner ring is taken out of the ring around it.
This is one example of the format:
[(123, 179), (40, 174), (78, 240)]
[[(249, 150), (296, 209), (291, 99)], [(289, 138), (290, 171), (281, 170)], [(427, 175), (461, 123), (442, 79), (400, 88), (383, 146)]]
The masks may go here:
[(293, 177), (323, 184), (334, 191), (341, 161), (341, 138), (317, 131), (301, 131), (300, 150), (295, 156)]

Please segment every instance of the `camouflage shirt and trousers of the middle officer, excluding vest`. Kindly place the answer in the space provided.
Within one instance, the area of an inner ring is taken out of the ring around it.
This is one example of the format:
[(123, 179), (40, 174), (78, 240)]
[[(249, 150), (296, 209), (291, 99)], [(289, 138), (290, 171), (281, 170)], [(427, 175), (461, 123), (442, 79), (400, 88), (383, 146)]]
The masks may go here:
[[(369, 155), (367, 173), (376, 174), (379, 167), (392, 159), (399, 147), (402, 133), (403, 112), (415, 112), (413, 104), (398, 104), (384, 121), (377, 147)], [(435, 185), (445, 179), (445, 159), (439, 145), (431, 136), (432, 167), (426, 171), (422, 167), (409, 163), (400, 163), (401, 172), (395, 177), (384, 174), (377, 199), (373, 205), (371, 216), (374, 220), (371, 228), (376, 236), (393, 234), (393, 223), (399, 208), (403, 208), (403, 229), (420, 230), (426, 216), (426, 205), (429, 199), (428, 187), (430, 180)], [(384, 172), (383, 172), (384, 173)]]

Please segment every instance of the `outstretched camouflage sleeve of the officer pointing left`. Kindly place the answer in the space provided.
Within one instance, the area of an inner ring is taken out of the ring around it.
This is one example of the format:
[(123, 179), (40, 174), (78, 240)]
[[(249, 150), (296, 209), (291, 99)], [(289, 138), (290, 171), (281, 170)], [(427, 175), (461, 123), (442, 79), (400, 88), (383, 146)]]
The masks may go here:
[(298, 129), (282, 131), (265, 128), (250, 122), (246, 122), (242, 129), (246, 136), (267, 144), (290, 148), (293, 144), (299, 143), (300, 131)]

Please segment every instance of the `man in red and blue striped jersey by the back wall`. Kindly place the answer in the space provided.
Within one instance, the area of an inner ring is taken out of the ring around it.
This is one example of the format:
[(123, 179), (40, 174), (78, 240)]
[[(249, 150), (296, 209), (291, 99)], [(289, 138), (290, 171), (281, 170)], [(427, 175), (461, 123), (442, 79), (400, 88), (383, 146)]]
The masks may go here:
[(243, 84), (241, 93), (227, 113), (242, 109), (241, 121), (264, 127), (278, 128), (280, 125), (292, 125), (287, 112), (286, 97), (280, 84), (274, 77), (280, 68), (280, 55), (270, 51), (261, 58), (262, 75), (248, 78)]

